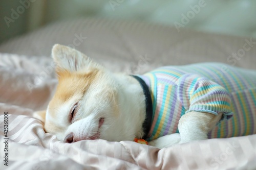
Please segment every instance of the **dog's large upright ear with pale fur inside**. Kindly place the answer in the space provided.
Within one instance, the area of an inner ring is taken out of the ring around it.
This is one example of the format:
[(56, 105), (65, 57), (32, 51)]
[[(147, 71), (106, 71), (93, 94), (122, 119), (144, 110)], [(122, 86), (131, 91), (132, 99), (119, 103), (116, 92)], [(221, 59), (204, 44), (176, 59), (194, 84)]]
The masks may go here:
[(52, 58), (56, 63), (56, 72), (62, 71), (83, 71), (94, 63), (81, 52), (74, 48), (55, 44), (52, 48)]

